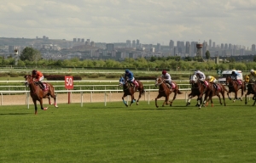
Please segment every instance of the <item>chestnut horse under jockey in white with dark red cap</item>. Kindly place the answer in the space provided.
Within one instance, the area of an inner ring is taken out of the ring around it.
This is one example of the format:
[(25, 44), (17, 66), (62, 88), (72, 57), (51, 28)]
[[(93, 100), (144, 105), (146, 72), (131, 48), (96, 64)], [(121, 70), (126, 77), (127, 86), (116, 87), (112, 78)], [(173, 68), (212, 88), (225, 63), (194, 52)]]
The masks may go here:
[[(162, 104), (162, 106), (165, 106), (165, 104), (169, 104), (170, 102), (170, 106), (172, 106), (172, 102), (174, 101), (174, 99), (176, 98), (177, 94), (182, 94), (180, 92), (180, 90), (178, 89), (177, 83), (176, 82), (172, 82), (172, 88), (170, 89), (167, 85), (166, 82), (164, 81), (164, 78), (159, 76), (156, 78), (155, 80), (155, 87), (159, 86), (159, 91), (158, 91), (158, 96), (155, 98), (155, 106), (156, 108), (158, 108), (157, 105), (157, 99), (161, 98), (161, 97), (165, 97), (166, 100), (165, 102)], [(172, 98), (172, 101), (169, 101), (169, 96), (171, 93), (174, 93), (174, 96)]]

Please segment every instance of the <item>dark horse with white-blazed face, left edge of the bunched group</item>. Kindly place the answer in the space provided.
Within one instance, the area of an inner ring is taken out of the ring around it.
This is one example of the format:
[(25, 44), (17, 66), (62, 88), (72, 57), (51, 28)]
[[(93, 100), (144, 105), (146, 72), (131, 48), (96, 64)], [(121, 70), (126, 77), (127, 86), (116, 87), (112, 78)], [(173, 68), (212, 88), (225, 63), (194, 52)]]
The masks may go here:
[(198, 82), (196, 81), (197, 81), (197, 76), (195, 74), (189, 77), (189, 84), (191, 84), (191, 93), (189, 93), (189, 100), (186, 106), (190, 104), (191, 98), (194, 98), (195, 96), (197, 96), (197, 100), (196, 100), (197, 104), (195, 106), (200, 106), (202, 102), (202, 98), (199, 98), (200, 92), (199, 92)]

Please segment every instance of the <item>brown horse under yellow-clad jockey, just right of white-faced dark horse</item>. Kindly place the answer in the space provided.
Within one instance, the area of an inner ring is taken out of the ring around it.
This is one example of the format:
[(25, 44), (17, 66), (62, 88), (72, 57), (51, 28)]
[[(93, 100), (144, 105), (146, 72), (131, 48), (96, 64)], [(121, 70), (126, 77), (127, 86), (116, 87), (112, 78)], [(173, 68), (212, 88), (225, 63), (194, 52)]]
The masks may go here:
[(202, 98), (203, 94), (205, 93), (205, 98), (203, 100), (203, 103), (199, 106), (199, 109), (201, 109), (201, 106), (203, 104), (208, 105), (209, 100), (211, 100), (211, 104), (213, 107), (212, 96), (218, 96), (219, 104), (222, 104), (219, 93), (221, 93), (222, 98), (224, 100), (224, 106), (226, 105), (224, 93), (225, 93), (225, 91), (228, 92), (228, 90), (224, 87), (224, 85), (219, 84), (219, 83), (213, 84), (211, 82), (208, 82), (208, 86), (206, 86), (202, 82), (198, 82), (198, 83), (199, 83), (199, 90), (201, 93), (200, 98)]

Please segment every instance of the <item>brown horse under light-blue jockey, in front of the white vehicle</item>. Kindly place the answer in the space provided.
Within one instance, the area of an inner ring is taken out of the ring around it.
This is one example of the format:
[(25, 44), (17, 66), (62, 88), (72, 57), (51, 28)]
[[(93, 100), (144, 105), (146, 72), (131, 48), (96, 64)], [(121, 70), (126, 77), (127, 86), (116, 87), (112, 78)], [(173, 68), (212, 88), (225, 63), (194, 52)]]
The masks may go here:
[[(231, 76), (226, 77), (226, 85), (229, 87), (229, 92), (227, 93), (228, 98), (230, 98), (230, 93), (235, 93), (235, 98), (233, 100), (233, 103), (236, 101), (237, 98), (237, 92), (239, 89), (241, 89), (241, 98), (240, 100), (242, 101), (242, 96), (243, 96), (243, 91), (245, 91), (245, 84), (243, 81), (241, 81), (241, 84), (239, 84), (237, 81), (234, 81)], [(230, 98), (231, 100), (231, 98)]]

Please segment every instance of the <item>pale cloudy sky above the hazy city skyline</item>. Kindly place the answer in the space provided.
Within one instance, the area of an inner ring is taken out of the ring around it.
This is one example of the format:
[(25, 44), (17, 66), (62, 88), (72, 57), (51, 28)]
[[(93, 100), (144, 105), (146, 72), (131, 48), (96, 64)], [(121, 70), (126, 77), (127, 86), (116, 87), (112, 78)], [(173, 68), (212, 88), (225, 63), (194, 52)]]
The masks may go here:
[(6, 0), (0, 37), (256, 44), (256, 0)]

